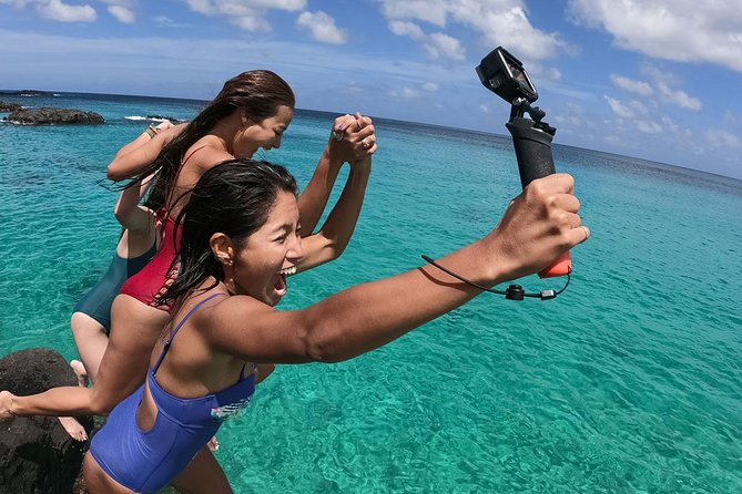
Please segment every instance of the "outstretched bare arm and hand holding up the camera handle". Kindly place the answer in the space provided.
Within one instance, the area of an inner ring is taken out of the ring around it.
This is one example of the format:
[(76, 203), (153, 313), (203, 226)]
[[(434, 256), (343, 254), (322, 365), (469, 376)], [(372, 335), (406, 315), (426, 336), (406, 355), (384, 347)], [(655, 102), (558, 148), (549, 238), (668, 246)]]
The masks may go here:
[[(498, 226), (439, 260), (479, 285), (537, 272), (585, 241), (569, 175), (533, 181)], [(334, 362), (378, 348), (480, 292), (433, 266), (334, 295), (307, 309), (277, 311), (250, 297), (230, 297), (204, 332), (221, 352), (254, 362)]]

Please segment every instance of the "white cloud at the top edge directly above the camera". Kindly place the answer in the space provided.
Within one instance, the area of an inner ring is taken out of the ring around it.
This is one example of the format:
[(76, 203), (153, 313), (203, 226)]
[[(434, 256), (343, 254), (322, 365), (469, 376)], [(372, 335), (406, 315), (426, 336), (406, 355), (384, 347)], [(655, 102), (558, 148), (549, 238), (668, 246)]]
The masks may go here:
[[(389, 21), (389, 29), (399, 35), (413, 38), (410, 32), (402, 30), (398, 25), (393, 27), (395, 21), (423, 21), (439, 28), (445, 28), (453, 21), (475, 31), (472, 34), (476, 39), (490, 47), (511, 45), (512, 40), (517, 39), (518, 53), (514, 54), (528, 61), (548, 59), (559, 50), (568, 48), (558, 34), (545, 33), (531, 25), (522, 0), (380, 0), (380, 2), (382, 13)], [(436, 47), (429, 38), (423, 40), (420, 33), (415, 35), (413, 39), (424, 41), (424, 48), (428, 53), (437, 53), (440, 56), (439, 50), (431, 50)], [(456, 52), (456, 56), (454, 60), (464, 58), (463, 48)]]

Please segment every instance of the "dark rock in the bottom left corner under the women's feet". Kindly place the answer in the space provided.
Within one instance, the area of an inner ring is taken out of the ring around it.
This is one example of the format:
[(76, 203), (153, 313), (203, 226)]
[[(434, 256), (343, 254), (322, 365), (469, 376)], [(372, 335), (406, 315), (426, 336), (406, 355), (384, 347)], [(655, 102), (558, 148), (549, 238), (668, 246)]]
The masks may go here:
[[(0, 389), (13, 394), (77, 383), (70, 366), (53, 350), (33, 348), (0, 359)], [(90, 435), (92, 419), (80, 421)], [(87, 450), (88, 442), (70, 438), (54, 416), (0, 422), (0, 492), (72, 492)]]

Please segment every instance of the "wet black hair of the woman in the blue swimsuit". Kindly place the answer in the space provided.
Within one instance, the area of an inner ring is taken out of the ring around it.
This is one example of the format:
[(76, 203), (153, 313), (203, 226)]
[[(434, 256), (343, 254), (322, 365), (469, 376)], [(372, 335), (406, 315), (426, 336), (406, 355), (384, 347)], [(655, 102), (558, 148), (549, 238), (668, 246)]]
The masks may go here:
[(204, 173), (177, 215), (176, 224), (183, 227), (175, 261), (181, 266), (160, 303), (172, 301), (177, 308), (209, 277), (216, 281), (204, 291), (223, 281), (222, 264), (210, 245), (212, 235), (223, 233), (241, 246), (265, 225), (281, 191), (296, 195), (296, 181), (283, 166), (267, 162), (230, 159)]

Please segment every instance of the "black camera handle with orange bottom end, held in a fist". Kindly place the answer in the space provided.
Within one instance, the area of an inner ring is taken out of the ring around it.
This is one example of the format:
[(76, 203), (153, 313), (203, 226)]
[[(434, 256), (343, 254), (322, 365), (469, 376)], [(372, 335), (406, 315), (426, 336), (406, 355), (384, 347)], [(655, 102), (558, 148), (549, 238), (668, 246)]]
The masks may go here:
[[(536, 120), (524, 117), (525, 112), (531, 114)], [(505, 124), (512, 136), (516, 158), (518, 159), (518, 172), (520, 173), (520, 184), (524, 188), (536, 178), (541, 178), (556, 172), (551, 154), (551, 140), (557, 130), (546, 122), (541, 122), (545, 115), (545, 112), (538, 107), (531, 107), (527, 101), (516, 100), (512, 104), (510, 121)], [(569, 251), (567, 251), (559, 256), (551, 266), (540, 271), (539, 277), (552, 278), (567, 276), (571, 270), (572, 260)]]

